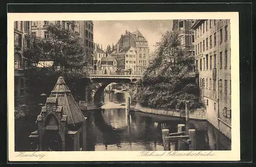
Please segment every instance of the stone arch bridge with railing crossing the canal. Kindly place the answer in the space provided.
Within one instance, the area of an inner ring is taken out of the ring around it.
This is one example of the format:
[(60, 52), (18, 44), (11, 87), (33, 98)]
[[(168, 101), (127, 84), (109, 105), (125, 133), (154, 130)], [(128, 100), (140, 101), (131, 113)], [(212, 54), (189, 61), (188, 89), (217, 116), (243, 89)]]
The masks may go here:
[(133, 75), (90, 75), (83, 79), (86, 80), (85, 86), (85, 101), (94, 102), (96, 107), (101, 107), (104, 104), (104, 89), (111, 83), (134, 83), (141, 76)]

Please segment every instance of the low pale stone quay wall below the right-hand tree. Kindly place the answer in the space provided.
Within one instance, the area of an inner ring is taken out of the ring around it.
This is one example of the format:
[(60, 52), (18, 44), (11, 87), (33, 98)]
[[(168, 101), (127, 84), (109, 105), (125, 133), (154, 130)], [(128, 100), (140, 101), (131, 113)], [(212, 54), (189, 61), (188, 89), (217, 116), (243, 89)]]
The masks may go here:
[[(154, 108), (147, 108), (137, 104), (134, 108), (134, 111), (146, 112), (146, 113), (153, 113), (158, 115), (167, 115), (167, 116), (177, 116), (177, 117), (184, 117), (185, 112), (177, 112), (175, 110), (162, 110), (162, 109), (154, 109)], [(202, 120), (206, 121), (206, 114), (203, 108), (195, 109), (193, 112), (189, 112), (189, 119), (193, 120)]]

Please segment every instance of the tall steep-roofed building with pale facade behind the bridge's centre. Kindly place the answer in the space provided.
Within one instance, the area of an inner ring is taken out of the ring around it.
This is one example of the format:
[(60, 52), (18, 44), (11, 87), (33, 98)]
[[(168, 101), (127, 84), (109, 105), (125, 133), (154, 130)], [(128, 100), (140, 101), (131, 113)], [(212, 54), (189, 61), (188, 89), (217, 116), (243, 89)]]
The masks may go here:
[[(119, 69), (132, 69), (136, 75), (141, 75), (148, 66), (150, 60), (150, 49), (147, 40), (139, 30), (131, 33), (125, 31), (114, 46), (113, 55), (117, 57)], [(125, 56), (123, 56), (125, 53)], [(122, 54), (122, 56), (120, 55)], [(128, 57), (127, 57), (128, 56)]]

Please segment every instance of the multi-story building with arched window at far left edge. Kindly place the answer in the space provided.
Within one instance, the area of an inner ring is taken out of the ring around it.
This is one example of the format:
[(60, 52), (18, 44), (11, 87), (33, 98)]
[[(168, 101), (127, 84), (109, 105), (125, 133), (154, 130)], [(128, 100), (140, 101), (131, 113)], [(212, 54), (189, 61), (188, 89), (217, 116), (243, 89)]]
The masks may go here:
[(25, 35), (31, 33), (31, 21), (14, 21), (14, 105), (26, 104), (27, 81), (23, 78), (26, 67), (23, 55), (24, 47), (29, 44)]

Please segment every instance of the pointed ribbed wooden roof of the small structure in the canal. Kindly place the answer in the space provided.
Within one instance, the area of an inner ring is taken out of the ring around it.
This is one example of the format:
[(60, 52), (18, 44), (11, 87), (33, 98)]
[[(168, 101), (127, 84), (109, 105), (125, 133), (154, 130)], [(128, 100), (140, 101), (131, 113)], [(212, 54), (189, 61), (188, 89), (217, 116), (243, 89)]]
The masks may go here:
[(62, 115), (67, 115), (68, 124), (78, 124), (86, 121), (63, 77), (59, 77), (50, 98), (57, 98), (57, 106), (62, 106)]

